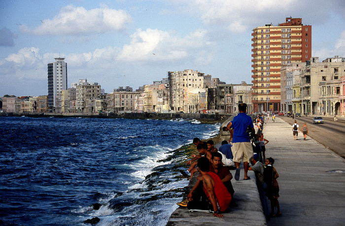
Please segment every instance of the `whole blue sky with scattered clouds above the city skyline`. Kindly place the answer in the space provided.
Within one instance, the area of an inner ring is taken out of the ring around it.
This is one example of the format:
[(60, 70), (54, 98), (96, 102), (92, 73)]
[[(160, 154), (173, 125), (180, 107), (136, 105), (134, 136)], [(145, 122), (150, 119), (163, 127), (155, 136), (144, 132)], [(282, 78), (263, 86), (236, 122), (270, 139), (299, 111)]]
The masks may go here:
[(0, 0), (0, 96), (48, 94), (63, 57), (106, 93), (197, 70), (228, 84), (251, 78), (252, 29), (302, 18), (312, 57), (345, 57), (344, 0)]

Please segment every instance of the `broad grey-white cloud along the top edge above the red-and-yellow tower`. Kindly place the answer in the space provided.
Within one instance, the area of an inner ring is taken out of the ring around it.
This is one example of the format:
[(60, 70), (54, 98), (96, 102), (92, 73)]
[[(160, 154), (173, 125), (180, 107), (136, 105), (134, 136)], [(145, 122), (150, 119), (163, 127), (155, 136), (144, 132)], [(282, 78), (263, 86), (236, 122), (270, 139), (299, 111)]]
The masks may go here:
[(185, 4), (188, 12), (200, 16), (206, 25), (235, 33), (271, 22), (283, 23), (290, 16), (302, 17), (304, 24), (325, 23), (335, 11), (345, 16), (344, 0), (327, 4), (322, 0), (312, 4), (307, 0), (175, 0), (173, 4)]

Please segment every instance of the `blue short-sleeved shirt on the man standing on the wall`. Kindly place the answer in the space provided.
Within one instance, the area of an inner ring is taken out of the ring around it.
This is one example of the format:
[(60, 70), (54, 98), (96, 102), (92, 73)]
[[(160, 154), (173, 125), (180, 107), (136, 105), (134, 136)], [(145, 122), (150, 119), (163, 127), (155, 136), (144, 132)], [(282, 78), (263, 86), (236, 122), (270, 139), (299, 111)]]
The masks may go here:
[(249, 133), (246, 133), (247, 127), (254, 128), (251, 117), (246, 113), (238, 113), (231, 121), (234, 128), (233, 143), (250, 142)]

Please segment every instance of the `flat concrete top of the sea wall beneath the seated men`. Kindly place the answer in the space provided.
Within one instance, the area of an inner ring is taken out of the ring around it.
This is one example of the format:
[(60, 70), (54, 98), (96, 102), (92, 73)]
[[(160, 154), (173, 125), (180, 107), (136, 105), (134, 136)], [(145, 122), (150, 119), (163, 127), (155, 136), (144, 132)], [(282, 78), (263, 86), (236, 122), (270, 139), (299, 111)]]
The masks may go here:
[[(220, 145), (218, 143), (215, 147), (218, 149)], [(231, 180), (235, 190), (234, 199), (238, 207), (229, 207), (228, 211), (222, 213), (223, 218), (215, 218), (212, 213), (188, 212), (186, 207), (178, 207), (170, 217), (167, 226), (266, 226), (266, 218), (262, 210), (255, 174), (253, 171), (248, 171), (248, 176), (251, 179), (243, 181), (243, 163), (240, 168), (240, 180)], [(235, 176), (235, 170), (230, 170), (230, 172)], [(186, 192), (183, 199), (187, 197), (189, 191), (195, 185), (197, 175), (198, 173), (195, 174), (185, 188)]]

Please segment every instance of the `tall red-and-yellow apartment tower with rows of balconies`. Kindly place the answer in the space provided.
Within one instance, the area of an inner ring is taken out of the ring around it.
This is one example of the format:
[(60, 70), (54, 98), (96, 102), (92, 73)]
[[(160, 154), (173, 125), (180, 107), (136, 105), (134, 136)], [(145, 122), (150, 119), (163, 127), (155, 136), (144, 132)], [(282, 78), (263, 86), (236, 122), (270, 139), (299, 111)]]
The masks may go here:
[(253, 111), (282, 111), (280, 68), (311, 59), (311, 25), (289, 17), (282, 24), (254, 28), (251, 40)]

